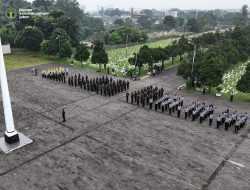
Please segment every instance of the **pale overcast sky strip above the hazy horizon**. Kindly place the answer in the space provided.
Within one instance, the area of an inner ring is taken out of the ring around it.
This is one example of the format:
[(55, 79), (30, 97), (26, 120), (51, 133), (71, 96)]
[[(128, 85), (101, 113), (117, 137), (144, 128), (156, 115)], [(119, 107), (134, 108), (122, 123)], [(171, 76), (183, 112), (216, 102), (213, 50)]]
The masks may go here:
[(250, 5), (250, 0), (78, 0), (86, 10), (97, 10), (100, 7), (130, 9), (239, 9)]

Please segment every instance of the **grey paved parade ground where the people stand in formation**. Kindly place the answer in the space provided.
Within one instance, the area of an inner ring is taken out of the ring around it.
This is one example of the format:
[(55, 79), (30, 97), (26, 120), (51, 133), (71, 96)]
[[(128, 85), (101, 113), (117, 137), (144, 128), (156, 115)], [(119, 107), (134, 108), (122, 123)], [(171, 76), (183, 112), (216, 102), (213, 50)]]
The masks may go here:
[[(7, 73), (15, 126), (34, 142), (0, 153), (0, 190), (250, 189), (248, 126), (235, 134), (128, 104), (125, 92), (104, 97), (42, 79), (41, 71), (51, 67), (38, 66), (38, 76), (31, 68)], [(250, 111), (249, 103), (178, 91), (183, 83), (173, 68), (130, 81), (129, 92), (157, 85), (183, 95), (184, 104), (199, 100), (216, 105), (217, 113)]]

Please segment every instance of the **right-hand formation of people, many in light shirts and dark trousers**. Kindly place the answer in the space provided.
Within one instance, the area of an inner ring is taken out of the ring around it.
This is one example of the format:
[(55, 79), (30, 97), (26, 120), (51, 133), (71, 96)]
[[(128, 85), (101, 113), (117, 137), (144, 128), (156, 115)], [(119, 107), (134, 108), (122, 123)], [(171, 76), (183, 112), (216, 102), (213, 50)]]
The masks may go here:
[[(163, 88), (147, 86), (141, 90), (126, 93), (127, 103), (136, 104), (137, 106), (148, 106), (149, 109), (155, 111), (161, 110), (161, 112), (168, 111), (169, 115), (173, 113), (177, 114), (177, 117), (181, 117), (183, 112), (183, 118), (185, 120), (190, 119), (196, 121), (199, 119), (200, 123), (203, 123), (206, 119), (209, 120), (209, 126), (213, 125), (215, 106), (213, 104), (207, 105), (205, 102), (194, 101), (192, 104), (183, 106), (184, 97), (178, 95), (170, 95), (164, 93)], [(226, 110), (217, 117), (216, 127), (224, 125), (225, 130), (234, 126), (235, 133), (243, 128), (247, 124), (248, 114), (237, 113), (236, 111), (231, 113)]]

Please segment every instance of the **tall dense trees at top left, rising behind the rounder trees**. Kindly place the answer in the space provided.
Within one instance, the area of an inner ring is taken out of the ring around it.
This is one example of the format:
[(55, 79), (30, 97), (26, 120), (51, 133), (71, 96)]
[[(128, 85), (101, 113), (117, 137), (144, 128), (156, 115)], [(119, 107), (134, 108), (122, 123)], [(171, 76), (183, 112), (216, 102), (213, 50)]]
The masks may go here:
[[(71, 43), (77, 45), (95, 32), (104, 30), (103, 21), (86, 14), (77, 0), (34, 0), (32, 4), (26, 0), (12, 0), (12, 7), (31, 8), (33, 11), (49, 12), (49, 16), (32, 16), (25, 19), (16, 17), (14, 29), (16, 34), (27, 26), (39, 28), (47, 40), (55, 28), (63, 28), (71, 38)], [(1, 9), (1, 7), (0, 7)], [(5, 16), (6, 7), (0, 10), (0, 27), (6, 27), (9, 19)], [(12, 44), (15, 46), (15, 44)]]

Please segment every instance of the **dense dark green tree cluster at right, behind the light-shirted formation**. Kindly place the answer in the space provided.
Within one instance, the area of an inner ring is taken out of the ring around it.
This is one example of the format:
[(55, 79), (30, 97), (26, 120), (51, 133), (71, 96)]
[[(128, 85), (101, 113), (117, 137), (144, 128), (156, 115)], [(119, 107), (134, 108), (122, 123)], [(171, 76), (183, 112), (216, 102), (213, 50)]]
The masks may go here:
[[(229, 68), (239, 62), (247, 61), (250, 55), (249, 26), (236, 27), (221, 34), (218, 32), (205, 34), (192, 41), (197, 46), (194, 76), (202, 85), (210, 87), (219, 85), (223, 74)], [(179, 66), (178, 74), (184, 78), (193, 78), (192, 62), (193, 52), (190, 51)], [(245, 77), (243, 79), (246, 80)], [(244, 85), (241, 83), (241, 86)]]

